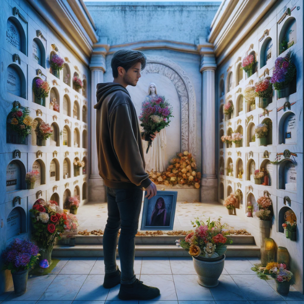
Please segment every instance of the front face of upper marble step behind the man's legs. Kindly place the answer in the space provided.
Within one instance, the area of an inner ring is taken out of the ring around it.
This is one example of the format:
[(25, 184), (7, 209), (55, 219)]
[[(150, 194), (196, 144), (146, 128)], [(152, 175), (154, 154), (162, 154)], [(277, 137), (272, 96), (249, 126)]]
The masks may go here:
[[(247, 244), (247, 245), (255, 245), (254, 237), (253, 236), (230, 236), (230, 238), (233, 240), (233, 244)], [(76, 244), (77, 245), (86, 245), (86, 244), (102, 244), (102, 236), (76, 236)], [(175, 245), (175, 240), (182, 239), (180, 236), (140, 236), (136, 237), (135, 242), (137, 245)], [(61, 245), (64, 245), (65, 240), (62, 240), (60, 242)]]

